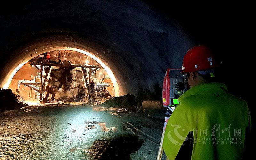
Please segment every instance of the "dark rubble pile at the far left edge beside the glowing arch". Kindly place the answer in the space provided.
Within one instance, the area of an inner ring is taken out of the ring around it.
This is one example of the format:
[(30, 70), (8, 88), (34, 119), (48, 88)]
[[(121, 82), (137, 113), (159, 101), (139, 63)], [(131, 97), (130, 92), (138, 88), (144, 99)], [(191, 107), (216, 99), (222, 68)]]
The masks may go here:
[(15, 94), (11, 89), (0, 88), (0, 112), (7, 109), (19, 109), (23, 107), (21, 102), (18, 102), (15, 98)]

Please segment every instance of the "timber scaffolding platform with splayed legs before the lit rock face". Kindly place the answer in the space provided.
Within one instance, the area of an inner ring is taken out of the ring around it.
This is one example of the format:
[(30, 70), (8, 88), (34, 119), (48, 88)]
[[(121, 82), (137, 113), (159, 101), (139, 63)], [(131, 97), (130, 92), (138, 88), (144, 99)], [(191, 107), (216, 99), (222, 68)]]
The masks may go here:
[[(57, 63), (30, 63), (31, 66), (34, 66), (40, 72), (37, 73), (34, 80), (19, 80), (18, 81), (18, 90), (20, 85), (26, 85), (30, 89), (35, 90), (35, 98), (39, 99), (40, 104), (44, 103), (45, 92), (47, 90), (47, 86), (51, 77), (52, 70), (54, 69), (76, 69), (81, 71), (83, 82), (84, 82), (84, 90), (85, 90), (85, 103), (90, 103), (91, 97), (93, 97), (93, 93), (90, 93), (90, 82), (92, 79), (96, 82), (96, 71), (100, 66), (96, 65), (79, 65), (72, 64), (70, 61), (63, 61), (61, 64)], [(100, 88), (109, 87), (108, 83), (95, 84), (95, 90)]]

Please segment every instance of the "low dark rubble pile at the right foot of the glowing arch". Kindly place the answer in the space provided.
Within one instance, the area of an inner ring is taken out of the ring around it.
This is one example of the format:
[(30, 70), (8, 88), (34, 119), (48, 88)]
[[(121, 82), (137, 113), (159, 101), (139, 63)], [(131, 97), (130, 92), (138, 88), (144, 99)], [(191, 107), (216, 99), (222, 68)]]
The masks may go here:
[(126, 94), (124, 96), (114, 97), (101, 104), (104, 107), (132, 107), (136, 105), (136, 98), (132, 94)]

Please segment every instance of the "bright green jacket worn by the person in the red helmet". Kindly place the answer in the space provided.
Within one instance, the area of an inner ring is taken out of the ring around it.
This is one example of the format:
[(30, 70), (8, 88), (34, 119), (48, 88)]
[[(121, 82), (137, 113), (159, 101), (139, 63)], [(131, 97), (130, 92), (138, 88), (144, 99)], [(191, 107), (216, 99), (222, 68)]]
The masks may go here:
[[(164, 134), (163, 148), (170, 160), (185, 140), (194, 143), (191, 159), (242, 159), (250, 123), (244, 100), (229, 94), (222, 83), (205, 83), (190, 88), (178, 101)], [(186, 139), (191, 131), (193, 140)]]

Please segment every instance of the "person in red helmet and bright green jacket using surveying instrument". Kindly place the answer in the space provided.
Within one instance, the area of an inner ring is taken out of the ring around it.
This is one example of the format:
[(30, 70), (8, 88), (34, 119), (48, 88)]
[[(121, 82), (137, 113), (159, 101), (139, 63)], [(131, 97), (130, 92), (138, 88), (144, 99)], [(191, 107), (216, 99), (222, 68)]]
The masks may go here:
[(186, 53), (180, 73), (186, 75), (191, 88), (179, 97), (166, 125), (163, 148), (170, 160), (188, 141), (193, 144), (189, 159), (243, 158), (245, 133), (251, 128), (250, 112), (244, 100), (228, 93), (225, 84), (212, 80), (220, 64), (203, 45)]

